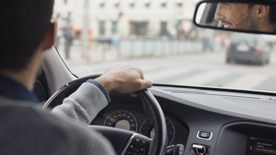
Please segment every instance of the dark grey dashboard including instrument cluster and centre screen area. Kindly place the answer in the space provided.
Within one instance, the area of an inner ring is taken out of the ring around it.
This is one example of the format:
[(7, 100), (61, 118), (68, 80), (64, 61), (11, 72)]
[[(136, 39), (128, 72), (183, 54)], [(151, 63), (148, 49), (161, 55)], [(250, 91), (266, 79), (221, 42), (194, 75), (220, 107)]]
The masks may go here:
[[(153, 86), (149, 90), (163, 109), (168, 146), (183, 144), (187, 155), (197, 154), (193, 145), (204, 146), (206, 155), (276, 154), (275, 94), (173, 86)], [(154, 137), (154, 127), (139, 97), (116, 92), (110, 97), (112, 101), (91, 125)], [(201, 138), (202, 132), (211, 136)]]

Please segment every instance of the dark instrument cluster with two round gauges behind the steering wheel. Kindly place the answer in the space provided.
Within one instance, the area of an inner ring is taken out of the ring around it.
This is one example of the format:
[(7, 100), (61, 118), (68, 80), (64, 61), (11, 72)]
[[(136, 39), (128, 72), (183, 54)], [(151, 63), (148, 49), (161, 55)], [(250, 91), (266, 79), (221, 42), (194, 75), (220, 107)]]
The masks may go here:
[[(181, 121), (174, 116), (164, 112), (167, 124), (168, 141), (167, 146), (174, 144), (185, 144), (187, 142), (188, 130)], [(143, 106), (136, 102), (112, 101), (98, 114), (91, 125), (101, 125), (131, 130), (154, 138), (155, 129), (153, 123), (144, 112)]]

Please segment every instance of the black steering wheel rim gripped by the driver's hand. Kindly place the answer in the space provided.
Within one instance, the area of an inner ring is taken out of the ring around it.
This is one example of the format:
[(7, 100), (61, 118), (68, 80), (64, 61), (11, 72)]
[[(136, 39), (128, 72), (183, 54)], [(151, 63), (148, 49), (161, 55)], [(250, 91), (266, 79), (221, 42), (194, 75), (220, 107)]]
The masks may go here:
[[(95, 79), (101, 75), (102, 74), (91, 74), (67, 83), (48, 99), (42, 107), (42, 110), (45, 110), (47, 107), (54, 108), (62, 104), (62, 100), (74, 93), (83, 82), (88, 79)], [(163, 111), (158, 101), (148, 89), (143, 89), (135, 93), (142, 100), (144, 110), (155, 127), (155, 138), (150, 141), (148, 154), (164, 155), (167, 147), (167, 127)]]

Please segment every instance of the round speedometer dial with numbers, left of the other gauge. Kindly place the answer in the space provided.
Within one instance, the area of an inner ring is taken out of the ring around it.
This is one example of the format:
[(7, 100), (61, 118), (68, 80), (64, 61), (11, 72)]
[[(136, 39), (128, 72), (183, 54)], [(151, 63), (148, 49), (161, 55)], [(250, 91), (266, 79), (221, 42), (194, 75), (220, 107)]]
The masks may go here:
[(118, 110), (111, 113), (105, 120), (105, 126), (115, 127), (133, 132), (137, 131), (137, 122), (132, 113), (125, 110)]

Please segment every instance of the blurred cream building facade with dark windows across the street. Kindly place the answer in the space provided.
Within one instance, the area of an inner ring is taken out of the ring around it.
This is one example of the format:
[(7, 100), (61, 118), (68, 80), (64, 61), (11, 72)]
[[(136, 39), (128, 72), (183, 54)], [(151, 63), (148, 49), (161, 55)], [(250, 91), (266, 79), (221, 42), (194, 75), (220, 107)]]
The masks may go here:
[(74, 28), (89, 29), (93, 37), (176, 36), (181, 30), (191, 29), (196, 3), (197, 0), (55, 0), (53, 17), (57, 13), (66, 17), (71, 12)]

